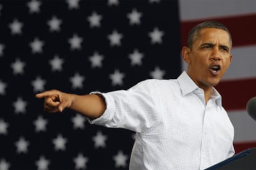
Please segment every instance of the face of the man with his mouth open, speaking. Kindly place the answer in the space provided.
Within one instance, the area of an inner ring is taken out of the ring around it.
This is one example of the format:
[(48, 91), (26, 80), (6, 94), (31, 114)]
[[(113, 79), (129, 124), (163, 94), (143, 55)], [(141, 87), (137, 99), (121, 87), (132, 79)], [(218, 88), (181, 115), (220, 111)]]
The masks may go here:
[(229, 34), (216, 28), (205, 28), (195, 39), (192, 49), (183, 47), (182, 55), (188, 63), (187, 73), (198, 87), (216, 86), (232, 59)]

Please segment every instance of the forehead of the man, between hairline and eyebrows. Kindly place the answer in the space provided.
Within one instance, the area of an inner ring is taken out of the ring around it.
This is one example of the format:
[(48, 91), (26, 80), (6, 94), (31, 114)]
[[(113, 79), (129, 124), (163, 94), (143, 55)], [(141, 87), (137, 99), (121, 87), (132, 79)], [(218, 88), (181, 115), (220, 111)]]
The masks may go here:
[(217, 28), (203, 28), (200, 33), (198, 33), (198, 37), (195, 38), (195, 41), (205, 43), (220, 43), (226, 46), (231, 46), (229, 34)]

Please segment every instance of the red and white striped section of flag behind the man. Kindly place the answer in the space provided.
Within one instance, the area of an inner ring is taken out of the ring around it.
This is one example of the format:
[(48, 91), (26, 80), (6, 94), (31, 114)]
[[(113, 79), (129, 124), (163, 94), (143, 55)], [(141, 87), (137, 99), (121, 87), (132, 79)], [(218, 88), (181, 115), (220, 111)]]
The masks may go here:
[[(216, 89), (234, 125), (237, 152), (256, 147), (256, 122), (246, 111), (247, 102), (256, 96), (256, 1), (179, 0), (181, 41), (186, 43), (189, 28), (204, 20), (218, 20), (233, 36), (233, 61)], [(186, 70), (186, 65), (182, 64)]]

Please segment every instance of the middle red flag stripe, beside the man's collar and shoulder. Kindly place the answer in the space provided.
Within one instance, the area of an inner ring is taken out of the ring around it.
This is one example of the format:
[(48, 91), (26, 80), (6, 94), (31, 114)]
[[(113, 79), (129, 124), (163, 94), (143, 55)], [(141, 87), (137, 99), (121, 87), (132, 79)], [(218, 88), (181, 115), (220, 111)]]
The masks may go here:
[(226, 110), (245, 110), (248, 100), (256, 96), (255, 79), (222, 81), (216, 86)]

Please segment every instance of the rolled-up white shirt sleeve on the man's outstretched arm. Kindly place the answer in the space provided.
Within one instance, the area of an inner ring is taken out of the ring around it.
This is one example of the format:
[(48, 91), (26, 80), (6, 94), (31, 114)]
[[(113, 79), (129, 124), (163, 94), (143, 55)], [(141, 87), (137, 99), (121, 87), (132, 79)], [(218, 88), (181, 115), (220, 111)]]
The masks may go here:
[[(92, 124), (106, 127), (124, 128), (135, 132), (148, 129), (159, 116), (157, 91), (154, 83), (146, 81), (129, 90), (100, 94), (106, 102), (106, 110), (100, 118), (89, 120)], [(152, 94), (152, 89), (154, 92)]]

